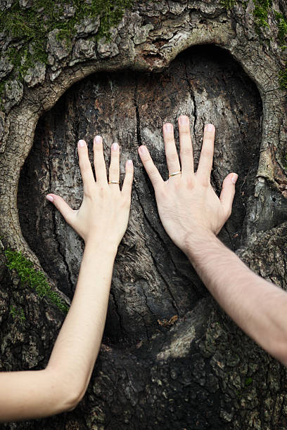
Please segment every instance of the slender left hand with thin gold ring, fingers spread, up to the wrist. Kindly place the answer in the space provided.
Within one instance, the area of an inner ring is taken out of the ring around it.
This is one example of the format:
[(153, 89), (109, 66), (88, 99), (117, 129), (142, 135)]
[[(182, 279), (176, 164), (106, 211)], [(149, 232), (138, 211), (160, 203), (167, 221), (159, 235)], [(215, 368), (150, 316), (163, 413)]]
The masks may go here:
[(55, 204), (65, 221), (84, 239), (85, 245), (95, 242), (117, 247), (127, 230), (129, 219), (134, 174), (132, 160), (126, 163), (125, 180), (120, 190), (120, 148), (117, 143), (113, 143), (110, 152), (109, 183), (101, 136), (94, 138), (96, 181), (85, 141), (79, 141), (78, 154), (84, 185), (81, 207), (73, 210), (62, 197), (55, 194), (50, 193), (46, 198)]

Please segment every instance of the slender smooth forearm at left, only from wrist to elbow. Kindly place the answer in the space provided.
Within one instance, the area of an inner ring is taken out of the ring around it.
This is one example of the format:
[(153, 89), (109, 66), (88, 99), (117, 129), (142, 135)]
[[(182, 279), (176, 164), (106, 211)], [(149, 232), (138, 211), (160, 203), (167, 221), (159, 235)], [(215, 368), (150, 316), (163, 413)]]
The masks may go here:
[(116, 253), (113, 245), (89, 242), (85, 247), (74, 299), (47, 367), (63, 372), (77, 401), (87, 389), (101, 345)]

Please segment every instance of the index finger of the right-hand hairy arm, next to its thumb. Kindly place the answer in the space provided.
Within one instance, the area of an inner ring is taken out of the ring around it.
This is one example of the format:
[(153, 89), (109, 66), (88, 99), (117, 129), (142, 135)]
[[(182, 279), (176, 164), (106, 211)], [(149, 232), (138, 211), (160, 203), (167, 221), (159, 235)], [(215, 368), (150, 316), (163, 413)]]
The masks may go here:
[(205, 181), (210, 181), (210, 174), (213, 164), (213, 151), (215, 145), (215, 126), (207, 124), (203, 133), (203, 145), (201, 147), (200, 159), (196, 177)]

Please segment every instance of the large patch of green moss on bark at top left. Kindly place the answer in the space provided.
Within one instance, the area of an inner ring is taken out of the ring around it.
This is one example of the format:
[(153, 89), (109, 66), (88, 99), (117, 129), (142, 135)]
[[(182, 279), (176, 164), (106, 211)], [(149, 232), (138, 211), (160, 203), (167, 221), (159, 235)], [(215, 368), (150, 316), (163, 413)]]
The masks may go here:
[[(64, 39), (70, 47), (76, 33), (75, 25), (85, 17), (92, 19), (99, 16), (100, 27), (95, 38), (109, 38), (110, 28), (120, 22), (125, 8), (131, 7), (133, 1), (91, 0), (87, 4), (83, 0), (72, 0), (75, 14), (65, 19), (60, 19), (63, 17), (65, 0), (58, 0), (57, 3), (34, 0), (30, 8), (21, 8), (19, 2), (14, 1), (11, 8), (0, 11), (1, 31), (18, 42), (18, 46), (13, 46), (8, 51), (8, 57), (14, 66), (11, 72), (13, 79), (23, 80), (27, 70), (37, 61), (47, 63), (47, 34), (52, 30), (58, 29), (58, 38)], [(2, 86), (1, 90), (3, 89)]]

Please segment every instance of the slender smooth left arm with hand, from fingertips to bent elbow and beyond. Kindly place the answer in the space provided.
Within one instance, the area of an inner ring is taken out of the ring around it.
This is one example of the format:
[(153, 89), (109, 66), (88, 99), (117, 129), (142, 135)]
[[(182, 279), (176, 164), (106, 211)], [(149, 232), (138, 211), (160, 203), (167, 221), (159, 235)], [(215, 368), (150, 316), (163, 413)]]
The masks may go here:
[[(129, 218), (133, 167), (132, 162), (127, 162), (120, 191), (119, 185), (108, 184), (101, 138), (94, 141), (96, 181), (86, 143), (78, 146), (78, 152), (84, 183), (82, 206), (74, 211), (61, 197), (49, 195), (85, 242), (75, 295), (46, 369), (0, 373), (2, 422), (55, 415), (75, 408), (84, 396), (98, 356), (113, 263)], [(119, 181), (119, 155), (118, 145), (113, 146), (110, 181)]]

